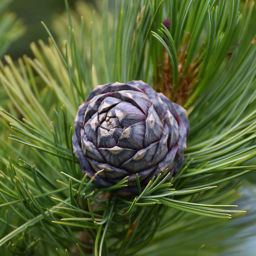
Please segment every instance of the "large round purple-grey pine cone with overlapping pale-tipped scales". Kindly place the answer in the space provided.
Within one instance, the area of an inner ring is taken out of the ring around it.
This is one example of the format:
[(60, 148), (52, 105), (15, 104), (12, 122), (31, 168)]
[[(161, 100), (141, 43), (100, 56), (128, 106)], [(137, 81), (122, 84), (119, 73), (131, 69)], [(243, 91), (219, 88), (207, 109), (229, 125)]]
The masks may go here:
[[(99, 85), (79, 107), (74, 154), (93, 183), (110, 187), (125, 176), (116, 193), (138, 193), (153, 176), (180, 168), (189, 133), (186, 110), (142, 81)], [(100, 171), (102, 170), (102, 171)], [(99, 172), (100, 171), (100, 172)]]

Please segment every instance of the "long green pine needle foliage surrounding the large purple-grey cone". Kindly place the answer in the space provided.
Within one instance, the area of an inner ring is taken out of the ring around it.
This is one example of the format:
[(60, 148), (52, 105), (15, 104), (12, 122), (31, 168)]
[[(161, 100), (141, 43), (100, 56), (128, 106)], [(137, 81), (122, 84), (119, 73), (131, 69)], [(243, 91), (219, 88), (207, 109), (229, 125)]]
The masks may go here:
[[(231, 215), (238, 221), (223, 234), (253, 224), (233, 202), (243, 176), (255, 171), (256, 38), (247, 40), (254, 2), (116, 1), (108, 10), (104, 1), (92, 23), (81, 19), (81, 33), (65, 3), (64, 47), (43, 24), (50, 39), (31, 44), (34, 59), (0, 63), (9, 99), (0, 103), (0, 253), (214, 255), (188, 234), (196, 230), (200, 240), (212, 230), (211, 244)], [(191, 132), (170, 182), (158, 176), (141, 191), (137, 179), (140, 194), (119, 197), (111, 190), (125, 179), (99, 189), (82, 175), (73, 119), (93, 87), (132, 79), (187, 108)]]

